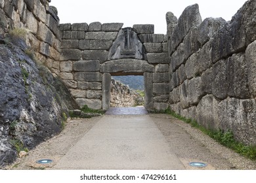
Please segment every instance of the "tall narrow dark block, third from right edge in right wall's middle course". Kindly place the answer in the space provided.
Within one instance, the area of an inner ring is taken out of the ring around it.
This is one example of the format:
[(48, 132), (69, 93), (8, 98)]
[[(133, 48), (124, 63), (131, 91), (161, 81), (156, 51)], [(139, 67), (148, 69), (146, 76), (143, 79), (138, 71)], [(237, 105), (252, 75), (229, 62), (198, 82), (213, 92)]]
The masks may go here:
[(228, 96), (228, 60), (222, 59), (213, 65), (211, 90), (218, 99), (225, 99)]

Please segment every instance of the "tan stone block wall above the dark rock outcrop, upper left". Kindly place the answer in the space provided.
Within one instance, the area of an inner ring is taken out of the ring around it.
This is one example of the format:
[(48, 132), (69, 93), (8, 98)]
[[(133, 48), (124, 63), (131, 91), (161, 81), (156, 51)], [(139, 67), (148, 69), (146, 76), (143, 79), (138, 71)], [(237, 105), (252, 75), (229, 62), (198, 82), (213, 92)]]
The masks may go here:
[(25, 28), (26, 43), (41, 61), (58, 75), (60, 56), (59, 19), (56, 8), (50, 7), (51, 0), (1, 0), (0, 33), (5, 37), (11, 29)]

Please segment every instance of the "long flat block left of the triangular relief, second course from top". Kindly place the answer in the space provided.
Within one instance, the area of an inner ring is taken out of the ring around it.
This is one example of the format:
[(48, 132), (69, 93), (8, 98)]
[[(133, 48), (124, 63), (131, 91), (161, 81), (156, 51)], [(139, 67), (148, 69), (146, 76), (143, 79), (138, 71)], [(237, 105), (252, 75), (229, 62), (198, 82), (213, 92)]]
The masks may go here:
[(98, 39), (98, 40), (112, 40), (117, 37), (118, 32), (87, 32), (85, 33), (85, 39)]

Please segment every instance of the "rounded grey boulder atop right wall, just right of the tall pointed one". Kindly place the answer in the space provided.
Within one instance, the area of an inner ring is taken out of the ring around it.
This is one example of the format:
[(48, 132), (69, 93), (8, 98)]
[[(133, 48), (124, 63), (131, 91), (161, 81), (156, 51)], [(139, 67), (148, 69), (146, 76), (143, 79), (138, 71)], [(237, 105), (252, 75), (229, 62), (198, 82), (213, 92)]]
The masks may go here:
[(199, 28), (198, 41), (202, 45), (205, 44), (224, 24), (226, 24), (226, 21), (223, 18), (205, 18)]

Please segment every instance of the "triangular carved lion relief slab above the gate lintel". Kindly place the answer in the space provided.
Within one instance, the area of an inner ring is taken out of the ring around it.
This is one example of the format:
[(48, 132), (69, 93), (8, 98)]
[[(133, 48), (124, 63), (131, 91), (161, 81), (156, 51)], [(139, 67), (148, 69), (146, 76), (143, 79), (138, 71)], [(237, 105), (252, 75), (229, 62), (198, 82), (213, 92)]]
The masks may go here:
[(138, 39), (137, 33), (130, 27), (119, 31), (110, 48), (108, 60), (121, 58), (146, 59), (145, 48)]

